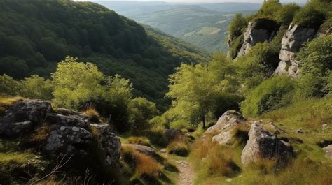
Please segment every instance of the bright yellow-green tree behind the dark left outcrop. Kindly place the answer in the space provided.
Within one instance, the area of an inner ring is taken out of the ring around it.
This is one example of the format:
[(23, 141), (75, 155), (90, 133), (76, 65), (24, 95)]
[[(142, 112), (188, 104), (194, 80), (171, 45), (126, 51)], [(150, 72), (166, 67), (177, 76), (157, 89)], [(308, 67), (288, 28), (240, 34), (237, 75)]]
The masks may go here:
[(74, 57), (60, 61), (52, 74), (54, 103), (64, 108), (81, 110), (96, 101), (102, 92), (103, 74), (91, 63), (80, 63)]

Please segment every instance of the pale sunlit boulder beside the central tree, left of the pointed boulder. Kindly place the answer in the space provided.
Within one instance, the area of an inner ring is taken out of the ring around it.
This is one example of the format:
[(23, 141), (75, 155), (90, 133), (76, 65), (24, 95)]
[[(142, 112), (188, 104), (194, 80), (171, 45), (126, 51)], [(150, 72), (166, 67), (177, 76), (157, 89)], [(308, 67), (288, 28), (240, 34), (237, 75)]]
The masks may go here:
[(247, 120), (239, 112), (227, 111), (219, 117), (214, 126), (207, 129), (205, 135), (213, 134), (212, 142), (231, 145), (239, 126), (247, 126)]

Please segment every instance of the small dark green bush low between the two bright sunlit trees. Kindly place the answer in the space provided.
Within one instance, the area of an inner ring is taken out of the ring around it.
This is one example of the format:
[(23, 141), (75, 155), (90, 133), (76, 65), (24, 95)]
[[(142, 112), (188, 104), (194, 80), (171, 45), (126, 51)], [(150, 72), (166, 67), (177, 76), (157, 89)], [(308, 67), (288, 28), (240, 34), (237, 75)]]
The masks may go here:
[(148, 120), (158, 114), (155, 103), (146, 100), (146, 98), (134, 98), (128, 104), (130, 112), (130, 122), (134, 124), (134, 129), (142, 130), (148, 128)]

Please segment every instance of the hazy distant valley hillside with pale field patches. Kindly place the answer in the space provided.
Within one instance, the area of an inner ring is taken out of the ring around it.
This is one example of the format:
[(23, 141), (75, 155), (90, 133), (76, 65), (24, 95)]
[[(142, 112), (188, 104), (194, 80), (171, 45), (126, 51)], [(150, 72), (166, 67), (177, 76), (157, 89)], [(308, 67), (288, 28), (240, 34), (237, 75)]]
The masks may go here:
[(256, 12), (255, 3), (172, 4), (144, 2), (98, 2), (121, 15), (181, 38), (207, 52), (228, 50), (228, 25), (235, 13)]

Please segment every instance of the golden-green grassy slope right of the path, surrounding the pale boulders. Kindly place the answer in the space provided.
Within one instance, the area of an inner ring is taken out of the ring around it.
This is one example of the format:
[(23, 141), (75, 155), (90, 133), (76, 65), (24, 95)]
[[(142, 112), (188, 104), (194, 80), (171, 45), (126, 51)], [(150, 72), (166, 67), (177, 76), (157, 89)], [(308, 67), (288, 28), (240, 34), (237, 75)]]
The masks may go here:
[[(197, 171), (195, 184), (332, 184), (332, 161), (325, 158), (318, 145), (321, 140), (332, 140), (331, 118), (331, 96), (301, 100), (256, 118), (263, 119), (263, 123), (272, 121), (286, 131), (277, 137), (291, 144), (295, 157), (283, 168), (268, 159), (242, 166), (240, 140), (245, 138), (240, 136), (247, 134), (246, 126), (235, 129), (239, 142), (233, 146), (209, 142), (214, 134), (205, 135), (205, 140), (197, 140), (191, 149), (190, 161)], [(323, 130), (324, 123), (328, 127)], [(297, 134), (298, 128), (303, 128), (305, 133)], [(240, 169), (232, 170), (230, 164)], [(226, 182), (228, 178), (232, 181)]]

